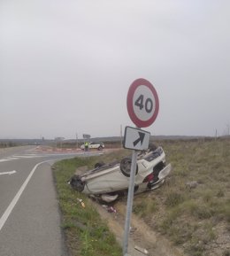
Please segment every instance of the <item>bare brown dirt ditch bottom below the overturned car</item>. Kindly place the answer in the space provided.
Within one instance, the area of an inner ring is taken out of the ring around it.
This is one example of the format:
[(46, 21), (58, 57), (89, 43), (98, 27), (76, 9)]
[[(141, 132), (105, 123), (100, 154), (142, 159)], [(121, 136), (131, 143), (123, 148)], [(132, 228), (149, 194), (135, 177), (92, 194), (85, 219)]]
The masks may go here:
[[(119, 244), (123, 244), (124, 227), (126, 219), (126, 201), (118, 201), (113, 207), (116, 213), (109, 213), (106, 206), (94, 203), (98, 213), (107, 224), (114, 235), (117, 237)], [(138, 251), (140, 249), (142, 252)], [(147, 252), (146, 252), (147, 250)], [(145, 253), (144, 253), (145, 252)], [(128, 254), (130, 256), (183, 256), (179, 249), (173, 247), (165, 237), (157, 235), (142, 219), (132, 214), (131, 231), (128, 242)]]

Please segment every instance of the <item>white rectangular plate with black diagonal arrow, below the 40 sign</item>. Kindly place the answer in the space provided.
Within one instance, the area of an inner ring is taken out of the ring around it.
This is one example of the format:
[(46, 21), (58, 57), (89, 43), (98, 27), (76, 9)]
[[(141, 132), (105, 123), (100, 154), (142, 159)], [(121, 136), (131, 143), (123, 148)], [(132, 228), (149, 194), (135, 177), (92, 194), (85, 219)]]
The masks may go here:
[(143, 151), (149, 148), (150, 133), (139, 128), (126, 127), (124, 148)]

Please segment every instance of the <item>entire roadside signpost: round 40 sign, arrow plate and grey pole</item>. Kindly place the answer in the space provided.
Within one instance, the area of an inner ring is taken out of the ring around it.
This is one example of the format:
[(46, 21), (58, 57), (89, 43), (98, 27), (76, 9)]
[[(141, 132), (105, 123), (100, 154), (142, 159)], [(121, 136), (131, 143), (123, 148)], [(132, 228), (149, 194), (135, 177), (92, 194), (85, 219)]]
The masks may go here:
[[(136, 125), (136, 128), (145, 128), (150, 126), (157, 118), (159, 111), (159, 99), (157, 96), (156, 89), (152, 84), (145, 79), (136, 79), (129, 87), (126, 98), (127, 112), (129, 117)], [(133, 207), (134, 199), (134, 182), (135, 182), (135, 170), (137, 160), (137, 148), (139, 150), (144, 149), (147, 144), (149, 145), (149, 139), (147, 138), (149, 133), (144, 131), (132, 131), (130, 128), (127, 132), (125, 145), (126, 148), (133, 148), (132, 164), (130, 171), (130, 180), (127, 195), (127, 206), (126, 206), (126, 223), (125, 223), (125, 234), (123, 244), (123, 254), (127, 256), (128, 246), (128, 235), (130, 231), (130, 219)], [(133, 138), (132, 135), (138, 137)], [(131, 135), (131, 136), (129, 136)], [(150, 135), (149, 135), (150, 136)], [(145, 144), (143, 145), (143, 142)]]

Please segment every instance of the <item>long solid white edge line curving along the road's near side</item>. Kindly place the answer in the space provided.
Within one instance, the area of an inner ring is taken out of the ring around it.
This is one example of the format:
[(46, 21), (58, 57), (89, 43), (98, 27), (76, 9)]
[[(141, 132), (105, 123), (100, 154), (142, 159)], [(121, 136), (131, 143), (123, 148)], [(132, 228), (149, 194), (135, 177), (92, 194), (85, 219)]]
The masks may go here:
[(7, 219), (8, 219), (9, 216), (10, 216), (10, 214), (12, 213), (12, 210), (13, 210), (14, 206), (16, 206), (17, 202), (19, 201), (19, 198), (20, 198), (22, 192), (26, 189), (27, 183), (30, 181), (32, 175), (34, 175), (35, 169), (36, 169), (37, 167), (39, 167), (40, 165), (42, 165), (43, 163), (49, 162), (49, 161), (50, 161), (50, 160), (46, 160), (46, 161), (42, 161), (42, 162), (36, 164), (35, 167), (32, 169), (32, 171), (30, 172), (30, 174), (27, 176), (26, 181), (22, 184), (22, 186), (20, 187), (18, 193), (17, 193), (16, 196), (12, 199), (11, 204), (7, 207), (7, 209), (5, 210), (3, 216), (2, 216), (1, 219), (0, 219), (0, 231), (1, 231), (1, 229), (3, 229), (5, 221), (7, 221)]

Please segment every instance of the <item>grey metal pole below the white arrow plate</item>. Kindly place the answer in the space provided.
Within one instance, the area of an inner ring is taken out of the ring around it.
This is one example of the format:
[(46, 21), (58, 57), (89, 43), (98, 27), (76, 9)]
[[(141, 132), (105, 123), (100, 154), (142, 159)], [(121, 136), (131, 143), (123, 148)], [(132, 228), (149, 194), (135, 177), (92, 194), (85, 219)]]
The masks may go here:
[(134, 200), (134, 182), (135, 182), (136, 159), (137, 159), (137, 151), (133, 151), (131, 171), (130, 171), (130, 180), (129, 180), (129, 187), (128, 187), (128, 195), (127, 195), (127, 206), (126, 206), (126, 222), (125, 222), (125, 233), (124, 233), (124, 244), (123, 244), (123, 255), (124, 256), (127, 255), (128, 235), (129, 235), (129, 231), (130, 231), (131, 214), (132, 214), (133, 200)]

